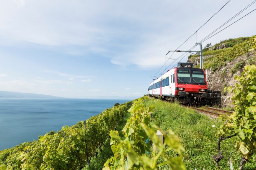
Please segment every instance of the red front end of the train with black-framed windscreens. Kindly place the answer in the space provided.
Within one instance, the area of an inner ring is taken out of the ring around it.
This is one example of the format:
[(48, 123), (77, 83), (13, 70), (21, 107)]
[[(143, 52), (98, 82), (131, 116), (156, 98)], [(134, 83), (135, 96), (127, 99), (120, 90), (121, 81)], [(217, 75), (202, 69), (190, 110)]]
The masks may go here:
[(203, 69), (194, 68), (192, 63), (179, 63), (175, 75), (175, 96), (181, 98), (183, 103), (198, 103), (210, 97)]

